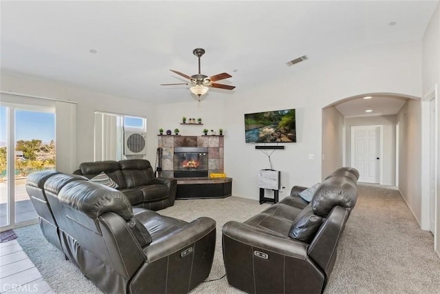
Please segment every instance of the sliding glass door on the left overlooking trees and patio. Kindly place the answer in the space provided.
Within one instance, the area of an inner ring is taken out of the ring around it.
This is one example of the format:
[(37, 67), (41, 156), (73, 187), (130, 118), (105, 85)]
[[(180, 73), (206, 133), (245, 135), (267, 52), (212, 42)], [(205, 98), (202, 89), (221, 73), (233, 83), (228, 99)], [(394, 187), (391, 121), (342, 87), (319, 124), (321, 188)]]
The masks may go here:
[(55, 110), (0, 105), (0, 230), (36, 222), (25, 182), (35, 171), (55, 169)]

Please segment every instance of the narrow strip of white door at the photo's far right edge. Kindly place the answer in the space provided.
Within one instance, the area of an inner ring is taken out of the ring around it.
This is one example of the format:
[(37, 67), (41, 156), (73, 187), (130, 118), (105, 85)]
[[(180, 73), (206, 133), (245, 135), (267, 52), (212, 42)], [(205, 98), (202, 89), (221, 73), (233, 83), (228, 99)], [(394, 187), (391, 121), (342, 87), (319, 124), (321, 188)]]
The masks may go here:
[(435, 218), (435, 99), (430, 101), (429, 230), (434, 233)]

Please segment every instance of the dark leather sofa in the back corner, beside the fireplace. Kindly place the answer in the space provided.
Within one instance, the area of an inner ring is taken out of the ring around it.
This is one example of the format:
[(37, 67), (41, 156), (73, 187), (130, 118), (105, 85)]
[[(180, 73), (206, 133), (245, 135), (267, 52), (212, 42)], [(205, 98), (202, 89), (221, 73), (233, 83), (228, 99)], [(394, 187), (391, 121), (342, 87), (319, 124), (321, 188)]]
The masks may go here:
[(83, 162), (74, 174), (91, 179), (102, 171), (118, 184), (118, 189), (129, 198), (133, 207), (157, 211), (174, 204), (177, 180), (156, 178), (148, 160)]

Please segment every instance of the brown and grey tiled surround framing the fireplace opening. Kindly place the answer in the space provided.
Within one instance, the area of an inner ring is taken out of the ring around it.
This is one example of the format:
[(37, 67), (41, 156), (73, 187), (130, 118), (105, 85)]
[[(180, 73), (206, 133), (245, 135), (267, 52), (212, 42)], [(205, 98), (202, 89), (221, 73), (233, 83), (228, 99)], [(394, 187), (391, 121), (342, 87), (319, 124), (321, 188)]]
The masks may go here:
[(160, 177), (173, 178), (175, 147), (208, 147), (208, 175), (223, 173), (223, 136), (157, 136), (162, 148), (162, 172)]

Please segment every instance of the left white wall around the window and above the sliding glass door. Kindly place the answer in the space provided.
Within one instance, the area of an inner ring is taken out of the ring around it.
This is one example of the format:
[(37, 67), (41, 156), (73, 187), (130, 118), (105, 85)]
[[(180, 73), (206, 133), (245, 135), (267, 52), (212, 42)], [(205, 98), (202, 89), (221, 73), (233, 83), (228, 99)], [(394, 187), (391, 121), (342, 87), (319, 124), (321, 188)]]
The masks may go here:
[[(72, 85), (46, 81), (40, 78), (1, 72), (1, 90), (58, 98), (64, 101), (76, 101), (76, 162), (94, 161), (94, 112), (113, 112), (131, 114), (147, 118), (147, 132), (156, 134), (155, 106), (129, 98), (111, 96), (90, 90), (80, 89)], [(68, 138), (69, 134), (66, 134)], [(56, 140), (66, 140), (56, 138)], [(147, 158), (155, 158), (157, 139), (147, 141)], [(151, 138), (148, 138), (151, 139)], [(66, 158), (68, 160), (68, 158)], [(153, 161), (154, 162), (154, 161)]]

